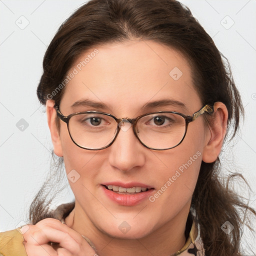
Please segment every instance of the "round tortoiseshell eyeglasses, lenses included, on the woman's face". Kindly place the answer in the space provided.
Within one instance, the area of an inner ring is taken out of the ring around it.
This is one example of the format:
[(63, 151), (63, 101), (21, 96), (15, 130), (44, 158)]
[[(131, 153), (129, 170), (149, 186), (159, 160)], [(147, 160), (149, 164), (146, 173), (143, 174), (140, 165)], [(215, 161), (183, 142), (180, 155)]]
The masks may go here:
[(213, 104), (206, 104), (191, 116), (175, 111), (159, 111), (139, 115), (136, 118), (116, 118), (98, 111), (76, 112), (64, 116), (54, 105), (57, 117), (67, 124), (72, 141), (88, 150), (100, 150), (110, 146), (120, 129), (132, 126), (133, 133), (142, 145), (149, 149), (166, 150), (179, 145), (186, 134), (189, 122), (207, 112), (214, 112)]

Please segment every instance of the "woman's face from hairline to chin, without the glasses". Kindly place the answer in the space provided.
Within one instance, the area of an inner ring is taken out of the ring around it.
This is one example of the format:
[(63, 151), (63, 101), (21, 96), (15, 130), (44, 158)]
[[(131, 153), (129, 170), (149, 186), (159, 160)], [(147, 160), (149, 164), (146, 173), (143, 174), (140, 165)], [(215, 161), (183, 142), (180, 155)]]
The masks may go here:
[[(80, 111), (102, 111), (117, 118), (155, 111), (191, 115), (202, 107), (186, 59), (153, 41), (91, 48), (77, 59), (71, 72), (74, 75), (69, 75), (59, 106), (64, 115)], [(78, 100), (99, 104), (71, 107)], [(169, 102), (161, 104), (162, 100)], [(111, 146), (93, 151), (75, 145), (66, 123), (60, 121), (54, 152), (63, 156), (66, 173), (71, 171), (75, 217), (81, 225), (115, 237), (139, 238), (186, 219), (208, 139), (209, 130), (199, 116), (189, 123), (182, 143), (172, 149), (144, 147), (130, 127), (121, 129)], [(119, 194), (105, 185), (149, 190)]]

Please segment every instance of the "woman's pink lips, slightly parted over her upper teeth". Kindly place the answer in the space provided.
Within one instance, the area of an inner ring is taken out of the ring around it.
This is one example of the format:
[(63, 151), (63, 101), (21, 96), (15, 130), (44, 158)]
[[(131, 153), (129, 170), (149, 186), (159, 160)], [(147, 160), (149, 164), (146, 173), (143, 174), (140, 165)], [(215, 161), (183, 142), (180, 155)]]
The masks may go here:
[[(146, 187), (148, 190), (144, 192), (139, 192), (135, 194), (119, 194), (112, 190), (107, 189), (105, 186), (107, 185), (115, 185), (115, 186), (121, 186), (121, 187), (133, 187), (133, 186), (140, 186), (140, 187)], [(130, 182), (130, 183), (121, 183), (121, 182), (107, 182), (105, 184), (101, 184), (101, 187), (103, 189), (104, 194), (108, 199), (111, 201), (114, 201), (115, 203), (122, 205), (122, 206), (134, 206), (142, 202), (143, 200), (146, 200), (150, 194), (154, 191), (154, 188), (151, 186), (138, 183), (138, 182)]]

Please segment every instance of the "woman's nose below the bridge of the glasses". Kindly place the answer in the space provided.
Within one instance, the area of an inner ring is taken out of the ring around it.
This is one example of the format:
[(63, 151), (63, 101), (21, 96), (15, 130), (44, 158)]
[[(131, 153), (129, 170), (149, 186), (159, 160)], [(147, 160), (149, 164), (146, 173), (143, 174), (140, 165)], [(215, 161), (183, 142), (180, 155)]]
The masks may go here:
[(145, 162), (144, 147), (133, 133), (130, 123), (122, 124), (114, 142), (108, 147), (109, 163), (121, 171), (130, 171), (143, 166)]

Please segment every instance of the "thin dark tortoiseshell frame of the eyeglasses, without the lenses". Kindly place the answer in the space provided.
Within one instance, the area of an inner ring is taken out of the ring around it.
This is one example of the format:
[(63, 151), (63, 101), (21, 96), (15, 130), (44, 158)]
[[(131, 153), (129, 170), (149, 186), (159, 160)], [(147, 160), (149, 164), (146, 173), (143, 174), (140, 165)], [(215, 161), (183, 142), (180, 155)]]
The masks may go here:
[[(55, 110), (56, 110), (56, 117), (60, 118), (60, 120), (62, 120), (63, 122), (66, 123), (69, 136), (70, 136), (71, 140), (74, 142), (74, 144), (77, 145), (77, 146), (80, 147), (80, 148), (87, 149), (87, 150), (101, 150), (101, 149), (104, 149), (104, 148), (109, 147), (109, 146), (114, 142), (114, 140), (116, 139), (116, 137), (117, 137), (117, 135), (118, 135), (118, 133), (119, 133), (119, 131), (120, 131), (120, 129), (121, 129), (119, 123), (121, 123), (121, 122), (123, 122), (123, 121), (128, 121), (128, 122), (132, 125), (132, 130), (133, 130), (134, 135), (137, 137), (137, 139), (139, 140), (139, 142), (140, 142), (143, 146), (145, 146), (146, 148), (149, 148), (149, 149), (152, 149), (152, 150), (167, 150), (167, 149), (171, 149), (171, 148), (173, 148), (173, 147), (178, 146), (178, 145), (184, 140), (185, 135), (186, 135), (186, 132), (187, 132), (188, 123), (194, 121), (198, 116), (200, 116), (200, 115), (203, 114), (203, 113), (211, 114), (211, 113), (214, 112), (214, 103), (210, 103), (210, 104), (205, 104), (203, 107), (201, 107), (198, 111), (194, 112), (192, 115), (185, 115), (185, 114), (183, 114), (183, 113), (176, 112), (176, 111), (157, 111), (157, 112), (150, 112), (150, 113), (141, 114), (141, 115), (139, 115), (139, 116), (137, 116), (137, 117), (135, 117), (135, 118), (128, 118), (128, 117), (116, 118), (116, 117), (115, 117), (114, 115), (112, 115), (112, 114), (105, 113), (105, 112), (100, 112), (100, 111), (75, 112), (75, 113), (71, 113), (71, 114), (65, 116), (65, 115), (63, 115), (63, 114), (60, 112), (60, 110), (59, 110), (59, 105), (54, 104), (53, 107), (54, 107)], [(86, 148), (86, 147), (83, 147), (83, 146), (77, 144), (77, 143), (74, 141), (74, 139), (72, 138), (71, 133), (70, 133), (70, 131), (69, 131), (69, 125), (68, 125), (68, 124), (69, 124), (69, 120), (70, 120), (70, 118), (71, 118), (72, 116), (74, 116), (74, 115), (85, 114), (85, 113), (88, 113), (88, 114), (89, 114), (89, 113), (104, 114), (104, 115), (107, 115), (107, 116), (112, 117), (112, 118), (117, 122), (117, 131), (116, 131), (116, 133), (115, 133), (115, 135), (114, 135), (112, 141), (111, 141), (109, 144), (107, 144), (107, 145), (104, 146), (104, 147), (100, 147), (100, 148)], [(136, 132), (136, 130), (135, 130), (135, 128), (136, 128), (136, 123), (138, 122), (138, 120), (139, 120), (140, 118), (146, 116), (146, 115), (157, 114), (157, 113), (174, 113), (174, 114), (178, 114), (178, 115), (180, 115), (180, 116), (182, 116), (182, 117), (184, 118), (184, 120), (185, 120), (185, 132), (184, 132), (184, 135), (183, 135), (182, 139), (181, 139), (181, 140), (179, 141), (179, 143), (176, 144), (175, 146), (172, 146), (172, 147), (169, 147), (169, 148), (163, 148), (163, 149), (161, 149), (161, 148), (153, 148), (153, 147), (150, 147), (150, 146), (147, 146), (146, 144), (144, 144), (144, 143), (140, 140), (140, 138), (138, 137), (137, 132)]]

